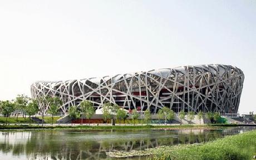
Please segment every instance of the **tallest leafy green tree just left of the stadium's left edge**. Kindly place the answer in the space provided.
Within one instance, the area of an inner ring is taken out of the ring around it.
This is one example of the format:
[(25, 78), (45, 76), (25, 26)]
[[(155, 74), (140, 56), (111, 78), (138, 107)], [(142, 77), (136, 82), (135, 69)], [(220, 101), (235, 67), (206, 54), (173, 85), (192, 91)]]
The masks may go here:
[(18, 111), (22, 111), (23, 114), (25, 114), (25, 119), (26, 119), (26, 107), (28, 104), (28, 97), (25, 96), (24, 94), (18, 94), (16, 97), (15, 101), (15, 110), (16, 110), (16, 120), (18, 121)]

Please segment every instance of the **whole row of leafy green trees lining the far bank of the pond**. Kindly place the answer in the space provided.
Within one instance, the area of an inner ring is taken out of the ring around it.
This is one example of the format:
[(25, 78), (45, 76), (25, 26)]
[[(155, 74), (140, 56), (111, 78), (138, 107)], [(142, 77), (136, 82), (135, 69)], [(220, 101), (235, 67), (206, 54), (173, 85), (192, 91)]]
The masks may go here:
[[(18, 119), (18, 114), (23, 114), (23, 117), (26, 118), (26, 116), (29, 116), (29, 119), (31, 116), (39, 113), (39, 107), (38, 104), (41, 104), (43, 109), (47, 106), (47, 113), (52, 115), (52, 124), (53, 124), (53, 116), (58, 114), (60, 107), (62, 106), (63, 102), (58, 97), (42, 97), (40, 99), (31, 99), (24, 95), (18, 95), (14, 101), (0, 101), (0, 112), (3, 114), (4, 117), (6, 117), (6, 123), (8, 122), (8, 117), (14, 113), (14, 115)], [(42, 119), (43, 119), (43, 113), (44, 111), (41, 111)], [(89, 125), (90, 125), (90, 119), (95, 114), (95, 108), (93, 107), (93, 104), (90, 101), (82, 101), (80, 103), (80, 108), (77, 106), (71, 106), (68, 109), (68, 114), (72, 119), (81, 118), (81, 124), (83, 124), (83, 117), (89, 119)], [(142, 118), (143, 114), (143, 118)], [(186, 116), (187, 114), (187, 116)], [(135, 125), (135, 121), (139, 119), (141, 116), (141, 119), (144, 119), (144, 122), (148, 124), (148, 122), (151, 120), (151, 113), (149, 109), (146, 109), (144, 113), (137, 111), (136, 109), (133, 109), (130, 113), (128, 113), (125, 109), (121, 108), (117, 104), (112, 103), (104, 103), (104, 106), (102, 108), (102, 116), (107, 122), (107, 119), (111, 119), (112, 125), (115, 125), (115, 120), (119, 119), (120, 122), (124, 121), (129, 115), (132, 118), (132, 121)], [(203, 118), (204, 113), (199, 112), (197, 114), (198, 119), (200, 120)], [(175, 117), (175, 112), (168, 108), (163, 107), (159, 109), (157, 112), (158, 119), (164, 119), (165, 124), (167, 121), (172, 121)], [(190, 122), (195, 118), (195, 112), (184, 112), (180, 111), (178, 113), (178, 117), (180, 118), (180, 121), (182, 122), (185, 117), (187, 117), (187, 120)], [(211, 122), (216, 122), (220, 118), (220, 114), (218, 112), (212, 113), (208, 112), (205, 114), (205, 117), (209, 119)], [(29, 121), (30, 122), (30, 121)], [(159, 121), (160, 122), (160, 121)], [(42, 121), (43, 125), (43, 121)]]

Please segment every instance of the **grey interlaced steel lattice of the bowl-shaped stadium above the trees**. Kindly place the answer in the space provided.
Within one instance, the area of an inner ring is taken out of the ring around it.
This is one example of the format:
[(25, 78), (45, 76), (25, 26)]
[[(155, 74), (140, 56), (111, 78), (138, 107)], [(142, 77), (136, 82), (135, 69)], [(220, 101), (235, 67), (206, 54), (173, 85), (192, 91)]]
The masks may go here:
[[(170, 107), (175, 112), (237, 113), (244, 81), (243, 72), (233, 66), (208, 64), (165, 68), (147, 72), (117, 74), (110, 77), (75, 79), (58, 82), (35, 82), (32, 98), (57, 96), (63, 101), (60, 111), (78, 106), (84, 99), (99, 109), (105, 102), (127, 110), (157, 113)], [(47, 104), (41, 104), (47, 112)]]

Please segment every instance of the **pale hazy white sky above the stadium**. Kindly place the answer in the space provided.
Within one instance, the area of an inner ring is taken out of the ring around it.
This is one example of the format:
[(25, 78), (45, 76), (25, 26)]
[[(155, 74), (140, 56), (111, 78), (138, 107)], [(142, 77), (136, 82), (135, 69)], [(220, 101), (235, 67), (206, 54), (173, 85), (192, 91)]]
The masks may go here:
[(0, 99), (32, 82), (186, 64), (245, 74), (239, 112), (254, 111), (256, 1), (0, 1)]

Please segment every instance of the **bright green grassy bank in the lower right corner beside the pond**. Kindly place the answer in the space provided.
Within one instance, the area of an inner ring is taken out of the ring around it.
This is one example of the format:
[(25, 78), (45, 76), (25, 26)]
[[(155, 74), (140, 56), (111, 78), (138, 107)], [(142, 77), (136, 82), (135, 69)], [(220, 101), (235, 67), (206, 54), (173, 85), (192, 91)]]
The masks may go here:
[(256, 131), (216, 139), (205, 144), (162, 147), (154, 151), (151, 159), (252, 159), (256, 152)]

